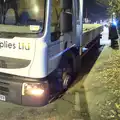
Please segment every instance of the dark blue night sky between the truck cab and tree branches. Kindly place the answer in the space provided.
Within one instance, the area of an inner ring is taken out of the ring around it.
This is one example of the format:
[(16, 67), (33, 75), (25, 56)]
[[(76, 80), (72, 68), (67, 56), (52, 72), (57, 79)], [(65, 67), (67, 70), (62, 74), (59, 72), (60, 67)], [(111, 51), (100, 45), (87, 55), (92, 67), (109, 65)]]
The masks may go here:
[(106, 7), (96, 3), (96, 0), (83, 0), (84, 1), (84, 17), (87, 16), (92, 21), (106, 19)]

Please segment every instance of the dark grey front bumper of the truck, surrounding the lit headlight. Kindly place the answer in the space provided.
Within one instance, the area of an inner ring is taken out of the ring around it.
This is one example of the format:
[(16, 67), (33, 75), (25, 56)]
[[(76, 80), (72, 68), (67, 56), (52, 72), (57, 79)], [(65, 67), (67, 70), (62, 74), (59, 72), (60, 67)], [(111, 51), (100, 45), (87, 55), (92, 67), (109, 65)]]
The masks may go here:
[(11, 102), (24, 106), (44, 106), (49, 101), (49, 85), (45, 88), (44, 95), (22, 95), (23, 83), (40, 83), (45, 81), (40, 79), (29, 79), (14, 75), (0, 73), (0, 101)]

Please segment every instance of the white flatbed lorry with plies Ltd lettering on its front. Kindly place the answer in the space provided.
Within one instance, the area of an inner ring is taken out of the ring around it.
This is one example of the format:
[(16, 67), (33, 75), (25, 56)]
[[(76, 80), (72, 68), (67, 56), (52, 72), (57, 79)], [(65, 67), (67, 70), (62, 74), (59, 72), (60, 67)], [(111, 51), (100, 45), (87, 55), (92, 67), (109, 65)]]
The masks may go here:
[(46, 105), (71, 84), (76, 57), (99, 47), (102, 26), (83, 32), (83, 0), (1, 0), (0, 9), (0, 100)]

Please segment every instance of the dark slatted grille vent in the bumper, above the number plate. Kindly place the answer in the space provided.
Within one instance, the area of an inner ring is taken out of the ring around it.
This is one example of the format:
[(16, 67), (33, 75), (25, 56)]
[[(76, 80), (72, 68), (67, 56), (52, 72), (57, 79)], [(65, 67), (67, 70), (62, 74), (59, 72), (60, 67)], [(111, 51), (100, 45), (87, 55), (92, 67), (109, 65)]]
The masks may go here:
[(8, 95), (9, 93), (9, 83), (0, 81), (0, 94)]

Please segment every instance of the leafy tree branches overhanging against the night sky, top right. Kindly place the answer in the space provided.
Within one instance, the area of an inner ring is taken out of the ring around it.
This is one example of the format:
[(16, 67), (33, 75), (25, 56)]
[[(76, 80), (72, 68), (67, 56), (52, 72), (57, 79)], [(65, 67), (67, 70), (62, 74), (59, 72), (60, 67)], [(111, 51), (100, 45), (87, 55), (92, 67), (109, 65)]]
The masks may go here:
[(109, 15), (112, 15), (114, 12), (117, 18), (120, 17), (120, 0), (97, 0), (97, 2), (108, 7)]

